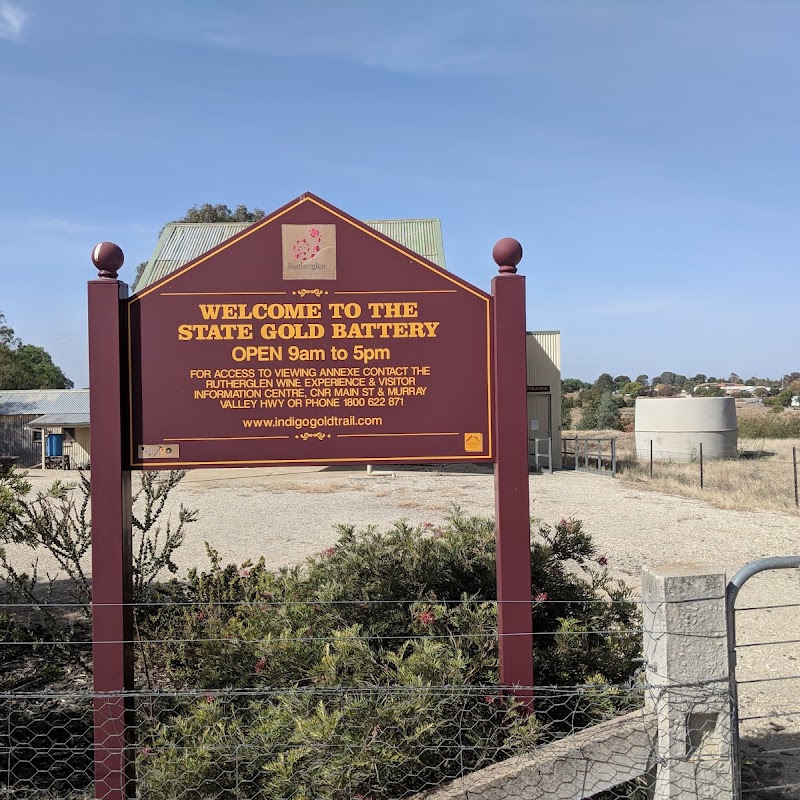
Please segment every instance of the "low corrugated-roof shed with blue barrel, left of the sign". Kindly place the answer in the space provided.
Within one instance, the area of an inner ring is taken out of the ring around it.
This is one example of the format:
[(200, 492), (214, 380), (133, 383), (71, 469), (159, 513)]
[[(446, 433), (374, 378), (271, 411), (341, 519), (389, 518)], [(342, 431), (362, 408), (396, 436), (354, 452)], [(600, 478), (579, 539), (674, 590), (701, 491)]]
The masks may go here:
[[(49, 438), (48, 438), (49, 437)], [(0, 456), (20, 467), (89, 466), (89, 390), (0, 392)]]

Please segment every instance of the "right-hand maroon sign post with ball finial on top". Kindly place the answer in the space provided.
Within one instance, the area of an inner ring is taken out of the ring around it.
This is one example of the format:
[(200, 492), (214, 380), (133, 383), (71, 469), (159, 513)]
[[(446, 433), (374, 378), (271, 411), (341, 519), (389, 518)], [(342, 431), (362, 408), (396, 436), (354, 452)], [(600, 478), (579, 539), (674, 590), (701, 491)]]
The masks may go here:
[[(500, 682), (505, 686), (531, 687), (533, 620), (525, 278), (516, 274), (522, 246), (514, 239), (501, 239), (495, 244), (492, 257), (500, 273), (492, 279)], [(530, 688), (515, 694), (532, 707)]]

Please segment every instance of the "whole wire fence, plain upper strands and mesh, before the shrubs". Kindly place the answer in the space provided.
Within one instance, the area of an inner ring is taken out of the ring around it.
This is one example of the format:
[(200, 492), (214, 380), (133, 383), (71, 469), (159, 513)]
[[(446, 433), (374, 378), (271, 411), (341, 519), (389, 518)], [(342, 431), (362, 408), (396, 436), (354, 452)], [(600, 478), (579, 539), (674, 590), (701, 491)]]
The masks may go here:
[[(675, 786), (713, 785), (725, 763), (709, 744), (709, 719), (691, 718), (682, 755), (657, 753), (657, 719), (667, 695), (685, 690), (701, 709), (703, 696), (713, 705), (727, 687), (651, 685), (641, 659), (631, 657), (641, 651), (641, 624), (612, 622), (638, 603), (537, 602), (542, 613), (575, 620), (589, 612), (593, 622), (535, 631), (538, 674), (561, 681), (532, 687), (485, 680), (496, 674), (496, 603), (141, 603), (129, 643), (136, 684), (122, 695), (93, 692), (91, 638), (82, 624), (59, 627), (48, 618), (45, 625), (42, 614), (70, 618), (74, 605), (6, 605), (0, 797), (94, 797), (96, 762), (108, 769), (100, 782), (113, 781), (128, 762), (130, 795), (152, 800), (644, 800), (659, 775)], [(344, 608), (348, 619), (357, 609), (372, 624), (313, 629), (313, 620)], [(437, 628), (443, 609), (451, 616)], [(487, 609), (482, 625), (466, 626)], [(375, 615), (394, 614), (411, 619), (412, 630), (376, 629)], [(26, 637), (31, 630), (39, 634)], [(589, 653), (626, 653), (628, 678), (598, 672), (570, 680), (570, 664), (578, 669)], [(124, 752), (95, 750), (95, 725), (108, 719)], [(687, 757), (690, 774), (677, 769)]]

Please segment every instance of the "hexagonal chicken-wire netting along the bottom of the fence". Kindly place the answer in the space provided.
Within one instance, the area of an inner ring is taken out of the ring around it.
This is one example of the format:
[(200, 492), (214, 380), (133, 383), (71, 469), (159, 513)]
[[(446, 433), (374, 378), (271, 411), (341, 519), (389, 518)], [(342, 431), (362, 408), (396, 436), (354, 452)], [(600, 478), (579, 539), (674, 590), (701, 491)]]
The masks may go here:
[[(531, 688), (545, 696), (549, 687)], [(559, 687), (550, 700), (584, 690)], [(541, 788), (561, 780), (558, 759), (531, 760), (546, 749), (547, 732), (504, 696), (499, 687), (132, 693), (136, 724), (126, 734), (135, 779), (128, 791), (164, 800), (404, 798), (456, 779), (483, 777), (492, 765), (505, 774), (488, 778), (501, 792), (506, 786), (510, 798), (520, 796), (520, 786)], [(85, 694), (2, 698), (0, 796), (95, 796), (93, 700), (102, 712), (103, 698)], [(113, 764), (118, 753), (106, 756)], [(558, 758), (563, 767), (565, 756)], [(635, 789), (646, 784), (646, 776), (620, 782), (616, 776), (627, 774), (631, 758), (629, 753), (617, 758), (605, 762), (617, 785), (603, 797), (637, 797)], [(588, 753), (573, 760), (584, 769), (591, 761)], [(593, 780), (601, 784), (603, 768), (598, 771)], [(564, 780), (565, 786), (572, 783), (574, 778)]]

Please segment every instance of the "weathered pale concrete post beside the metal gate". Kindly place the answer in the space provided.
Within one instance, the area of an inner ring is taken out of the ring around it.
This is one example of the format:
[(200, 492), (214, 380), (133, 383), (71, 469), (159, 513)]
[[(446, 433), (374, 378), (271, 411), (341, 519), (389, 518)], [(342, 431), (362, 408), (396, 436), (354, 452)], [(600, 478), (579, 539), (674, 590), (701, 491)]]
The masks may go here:
[(655, 800), (735, 796), (726, 583), (706, 565), (642, 571), (646, 706), (658, 720)]

